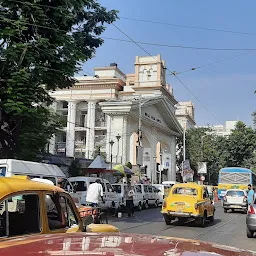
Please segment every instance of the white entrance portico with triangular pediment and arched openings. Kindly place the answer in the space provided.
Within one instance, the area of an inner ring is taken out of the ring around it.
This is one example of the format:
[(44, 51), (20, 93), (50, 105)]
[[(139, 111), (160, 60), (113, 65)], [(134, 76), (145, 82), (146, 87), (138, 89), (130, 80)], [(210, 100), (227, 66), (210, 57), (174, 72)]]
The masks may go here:
[[(101, 102), (102, 111), (108, 115), (108, 141), (113, 140), (113, 161), (138, 164), (139, 108), (141, 107), (142, 166), (146, 175), (157, 182), (156, 163), (159, 158), (157, 143), (163, 142), (162, 165), (167, 169), (163, 179), (176, 179), (176, 137), (182, 134), (182, 128), (168, 107), (164, 97), (155, 97), (141, 104), (137, 100)], [(116, 141), (117, 134), (121, 140)], [(107, 146), (107, 155), (111, 155)]]

